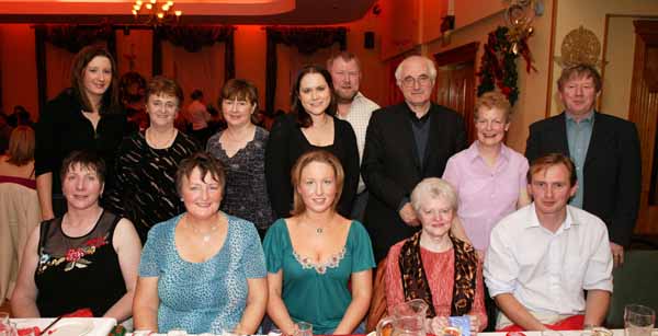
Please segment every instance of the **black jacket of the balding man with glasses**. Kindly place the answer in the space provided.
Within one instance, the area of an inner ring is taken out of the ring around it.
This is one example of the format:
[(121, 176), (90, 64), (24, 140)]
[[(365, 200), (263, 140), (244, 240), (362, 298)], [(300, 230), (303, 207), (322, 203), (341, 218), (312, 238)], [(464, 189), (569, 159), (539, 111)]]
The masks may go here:
[(370, 197), (364, 224), (377, 260), (386, 256), (393, 244), (418, 230), (408, 227), (399, 217), (402, 199), (409, 197), (424, 177), (441, 177), (447, 159), (466, 147), (462, 117), (454, 111), (432, 104), (428, 112), (430, 135), (420, 166), (409, 113), (406, 103), (373, 113), (365, 136), (361, 174)]

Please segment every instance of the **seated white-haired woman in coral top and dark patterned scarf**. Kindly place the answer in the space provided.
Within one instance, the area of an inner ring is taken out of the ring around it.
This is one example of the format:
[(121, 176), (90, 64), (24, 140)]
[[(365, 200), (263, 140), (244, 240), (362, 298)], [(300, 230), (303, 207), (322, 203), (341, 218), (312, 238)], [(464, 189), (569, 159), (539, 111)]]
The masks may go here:
[(388, 310), (423, 299), (429, 305), (429, 333), (439, 335), (449, 316), (462, 315), (469, 317), (472, 333), (483, 331), (487, 314), (481, 264), (473, 246), (450, 232), (457, 210), (455, 190), (441, 178), (426, 178), (413, 188), (411, 206), (422, 229), (388, 252)]

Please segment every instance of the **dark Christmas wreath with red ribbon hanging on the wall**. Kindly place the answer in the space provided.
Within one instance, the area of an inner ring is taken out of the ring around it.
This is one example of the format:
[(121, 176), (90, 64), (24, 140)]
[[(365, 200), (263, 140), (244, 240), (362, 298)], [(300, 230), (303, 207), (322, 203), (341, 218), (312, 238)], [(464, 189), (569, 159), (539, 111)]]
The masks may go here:
[(519, 55), (525, 59), (527, 72), (535, 70), (527, 47), (527, 38), (532, 35), (532, 28), (526, 33), (519, 34), (515, 30), (510, 31), (506, 26), (499, 26), (489, 33), (485, 54), (480, 61), (480, 70), (477, 73), (480, 79), (477, 86), (478, 96), (498, 88), (508, 97), (510, 104), (514, 105), (519, 99), (519, 86), (517, 86), (519, 79), (517, 58)]

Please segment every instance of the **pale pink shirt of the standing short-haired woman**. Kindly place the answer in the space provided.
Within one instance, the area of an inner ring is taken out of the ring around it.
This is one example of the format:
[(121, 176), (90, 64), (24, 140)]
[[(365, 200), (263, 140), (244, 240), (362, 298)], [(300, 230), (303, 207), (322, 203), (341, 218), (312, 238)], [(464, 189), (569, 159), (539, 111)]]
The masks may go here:
[(525, 157), (502, 143), (495, 166), (480, 157), (477, 141), (450, 158), (443, 178), (457, 192), (457, 216), (475, 248), (486, 251), (491, 229), (517, 210), (526, 173)]

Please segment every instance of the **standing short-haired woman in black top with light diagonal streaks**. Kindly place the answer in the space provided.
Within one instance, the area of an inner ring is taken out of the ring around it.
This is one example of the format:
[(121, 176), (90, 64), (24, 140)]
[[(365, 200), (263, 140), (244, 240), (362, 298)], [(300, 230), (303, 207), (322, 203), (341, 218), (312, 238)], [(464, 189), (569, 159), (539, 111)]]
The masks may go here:
[(182, 102), (175, 81), (154, 78), (146, 88), (150, 125), (125, 138), (116, 153), (116, 187), (107, 193), (106, 207), (133, 221), (143, 243), (152, 225), (183, 211), (175, 172), (198, 146), (173, 126)]

